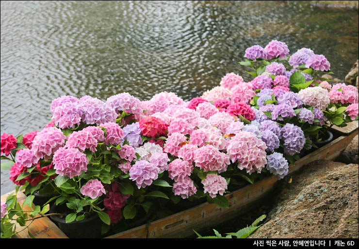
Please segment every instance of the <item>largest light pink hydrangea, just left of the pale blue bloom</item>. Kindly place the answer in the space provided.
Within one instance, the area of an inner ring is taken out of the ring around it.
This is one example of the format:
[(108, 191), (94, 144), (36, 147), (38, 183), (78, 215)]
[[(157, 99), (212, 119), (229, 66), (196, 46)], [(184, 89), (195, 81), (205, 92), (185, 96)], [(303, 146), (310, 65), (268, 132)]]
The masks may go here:
[(267, 164), (265, 149), (265, 143), (254, 133), (242, 131), (231, 138), (227, 154), (233, 163), (238, 162), (239, 169), (245, 169), (249, 174), (261, 173)]

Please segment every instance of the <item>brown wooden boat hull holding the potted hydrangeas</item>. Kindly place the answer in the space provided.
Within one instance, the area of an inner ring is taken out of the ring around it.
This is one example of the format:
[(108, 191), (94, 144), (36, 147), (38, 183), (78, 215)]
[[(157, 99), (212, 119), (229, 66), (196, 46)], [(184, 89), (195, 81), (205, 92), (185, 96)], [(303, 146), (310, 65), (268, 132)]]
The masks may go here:
[[(358, 134), (358, 121), (351, 122), (343, 128), (334, 127), (332, 130), (340, 134), (339, 137), (302, 157), (294, 165), (290, 165), (289, 175), (315, 160), (333, 160), (339, 156)], [(258, 200), (267, 195), (277, 182), (275, 176), (270, 176), (225, 195), (229, 201), (228, 208), (221, 208), (216, 204), (206, 202), (106, 238), (185, 238), (194, 235), (193, 230), (200, 231), (206, 227), (213, 227), (249, 210)], [(6, 200), (9, 194), (1, 196), (1, 201)], [(23, 193), (18, 193), (20, 202), (25, 198)], [(64, 232), (47, 217), (34, 220), (29, 228), (37, 238), (67, 238)], [(17, 237), (28, 238), (30, 236), (25, 230), (18, 233)]]

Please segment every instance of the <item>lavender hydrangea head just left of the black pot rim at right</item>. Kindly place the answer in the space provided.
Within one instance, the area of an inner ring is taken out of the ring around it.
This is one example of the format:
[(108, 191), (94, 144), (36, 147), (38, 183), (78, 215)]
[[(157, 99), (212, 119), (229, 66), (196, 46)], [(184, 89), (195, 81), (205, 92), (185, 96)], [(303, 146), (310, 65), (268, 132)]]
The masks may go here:
[(284, 153), (293, 156), (304, 148), (306, 138), (299, 126), (287, 123), (282, 127), (280, 135), (283, 140)]

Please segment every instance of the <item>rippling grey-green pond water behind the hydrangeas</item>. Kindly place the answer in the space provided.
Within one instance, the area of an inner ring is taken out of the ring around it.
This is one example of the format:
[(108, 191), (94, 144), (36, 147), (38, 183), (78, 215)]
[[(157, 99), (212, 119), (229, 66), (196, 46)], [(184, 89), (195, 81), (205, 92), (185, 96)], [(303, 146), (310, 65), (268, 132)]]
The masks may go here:
[(358, 59), (358, 12), (308, 1), (1, 1), (0, 14), (0, 133), (14, 135), (40, 131), (62, 95), (190, 100), (228, 72), (250, 80), (237, 62), (272, 39), (326, 55), (342, 80)]

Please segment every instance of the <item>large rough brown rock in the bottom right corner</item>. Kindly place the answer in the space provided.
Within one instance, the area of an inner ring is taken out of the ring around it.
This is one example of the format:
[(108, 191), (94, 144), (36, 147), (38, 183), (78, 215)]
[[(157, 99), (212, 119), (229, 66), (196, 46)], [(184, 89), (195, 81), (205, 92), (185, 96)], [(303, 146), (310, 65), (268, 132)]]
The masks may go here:
[(358, 165), (318, 160), (278, 184), (251, 238), (358, 238)]

